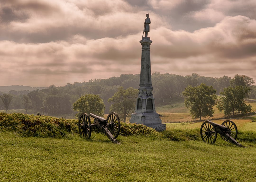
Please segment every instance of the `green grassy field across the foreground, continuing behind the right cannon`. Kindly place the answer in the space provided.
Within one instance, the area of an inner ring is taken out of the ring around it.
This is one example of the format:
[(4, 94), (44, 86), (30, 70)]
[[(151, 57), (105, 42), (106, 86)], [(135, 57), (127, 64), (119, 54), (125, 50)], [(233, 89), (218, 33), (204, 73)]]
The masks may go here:
[[(232, 119), (238, 130), (256, 132), (252, 120), (256, 117)], [(186, 131), (200, 126), (166, 127)], [(68, 138), (21, 137), (0, 130), (0, 181), (256, 181), (255, 142), (243, 141), (247, 148), (239, 148), (220, 136), (214, 144), (119, 136), (118, 145), (97, 133), (89, 140), (77, 134)]]

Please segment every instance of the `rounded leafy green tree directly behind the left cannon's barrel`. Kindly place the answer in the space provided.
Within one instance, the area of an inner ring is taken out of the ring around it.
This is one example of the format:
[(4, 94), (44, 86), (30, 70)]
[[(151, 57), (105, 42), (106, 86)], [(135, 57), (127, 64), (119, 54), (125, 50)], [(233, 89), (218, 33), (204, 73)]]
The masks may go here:
[(103, 99), (99, 95), (86, 94), (82, 95), (76, 102), (73, 103), (74, 111), (78, 111), (76, 116), (78, 117), (81, 113), (90, 113), (97, 116), (103, 117), (105, 111), (105, 105)]

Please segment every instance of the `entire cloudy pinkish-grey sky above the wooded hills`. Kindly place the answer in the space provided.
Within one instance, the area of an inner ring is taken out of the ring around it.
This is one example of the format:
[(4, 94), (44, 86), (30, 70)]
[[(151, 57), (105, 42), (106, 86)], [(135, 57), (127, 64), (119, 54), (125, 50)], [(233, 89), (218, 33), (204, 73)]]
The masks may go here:
[(65, 86), (151, 71), (256, 81), (255, 0), (0, 0), (0, 86)]

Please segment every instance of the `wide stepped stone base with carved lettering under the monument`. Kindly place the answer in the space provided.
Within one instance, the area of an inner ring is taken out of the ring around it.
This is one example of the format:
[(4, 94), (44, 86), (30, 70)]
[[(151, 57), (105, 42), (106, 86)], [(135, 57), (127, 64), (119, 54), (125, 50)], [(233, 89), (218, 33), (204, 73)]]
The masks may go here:
[(154, 128), (156, 131), (166, 130), (166, 125), (162, 124), (160, 115), (156, 112), (134, 112), (131, 115), (130, 123), (143, 124)]

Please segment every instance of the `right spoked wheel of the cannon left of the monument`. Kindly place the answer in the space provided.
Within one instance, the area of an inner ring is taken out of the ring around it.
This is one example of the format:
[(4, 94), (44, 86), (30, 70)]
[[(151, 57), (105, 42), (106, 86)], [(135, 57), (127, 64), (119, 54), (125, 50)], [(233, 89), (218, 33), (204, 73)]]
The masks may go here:
[(108, 121), (108, 129), (111, 132), (111, 134), (116, 138), (119, 135), (120, 132), (120, 119), (118, 117), (118, 115), (114, 112), (109, 113), (108, 117), (107, 117), (107, 121)]

